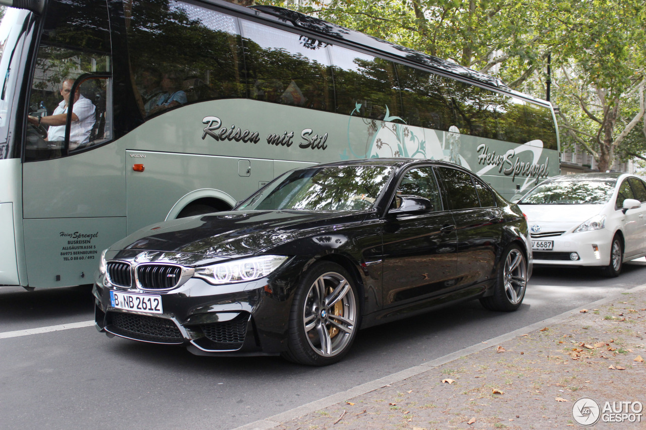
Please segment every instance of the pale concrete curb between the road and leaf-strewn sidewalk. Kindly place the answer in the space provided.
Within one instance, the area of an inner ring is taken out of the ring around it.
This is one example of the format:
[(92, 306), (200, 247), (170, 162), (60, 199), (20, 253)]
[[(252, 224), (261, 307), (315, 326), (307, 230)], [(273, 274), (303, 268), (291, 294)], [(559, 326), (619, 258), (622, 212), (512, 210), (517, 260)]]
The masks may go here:
[(323, 409), (324, 407), (329, 407), (339, 402), (345, 402), (350, 398), (359, 396), (361, 394), (370, 393), (370, 391), (374, 391), (376, 389), (384, 387), (385, 385), (393, 384), (395, 382), (400, 382), (406, 378), (410, 378), (411, 376), (415, 376), (417, 374), (430, 371), (430, 369), (433, 369), (434, 367), (438, 367), (448, 362), (452, 362), (453, 360), (457, 360), (458, 358), (461, 358), (463, 356), (468, 356), (470, 354), (483, 351), (484, 349), (497, 346), (499, 343), (506, 342), (507, 340), (520, 336), (521, 334), (530, 333), (532, 331), (541, 329), (548, 325), (563, 322), (572, 314), (578, 314), (579, 309), (583, 309), (586, 307), (593, 309), (594, 307), (598, 307), (600, 305), (604, 305), (606, 303), (613, 302), (618, 298), (621, 298), (621, 294), (623, 293), (638, 292), (643, 289), (646, 289), (646, 283), (643, 285), (639, 285), (638, 287), (634, 287), (629, 290), (622, 291), (621, 293), (613, 294), (610, 297), (603, 298), (601, 300), (596, 300), (596, 302), (591, 302), (582, 306), (578, 306), (574, 309), (570, 309), (570, 311), (566, 311), (566, 312), (563, 312), (562, 314), (552, 316), (551, 318), (547, 318), (545, 320), (527, 325), (526, 327), (522, 327), (510, 333), (502, 334), (501, 336), (497, 336), (486, 342), (477, 343), (470, 347), (461, 349), (460, 351), (455, 351), (455, 353), (446, 354), (445, 356), (435, 358), (435, 360), (430, 360), (428, 362), (421, 363), (420, 365), (409, 367), (408, 369), (404, 369), (397, 373), (384, 376), (383, 378), (366, 382), (365, 384), (357, 385), (356, 387), (353, 387), (346, 391), (340, 391), (339, 393), (332, 394), (331, 396), (324, 397), (320, 400), (315, 400), (314, 402), (310, 402), (308, 404), (304, 404), (304, 405), (295, 407), (293, 409), (289, 409), (289, 411), (285, 411), (273, 416), (269, 416), (264, 420), (258, 420), (249, 424), (242, 425), (240, 427), (236, 427), (233, 430), (271, 429), (273, 427), (276, 427), (276, 425), (280, 425), (280, 423), (282, 422), (294, 420), (300, 416), (307, 415), (308, 413), (318, 411), (319, 409)]

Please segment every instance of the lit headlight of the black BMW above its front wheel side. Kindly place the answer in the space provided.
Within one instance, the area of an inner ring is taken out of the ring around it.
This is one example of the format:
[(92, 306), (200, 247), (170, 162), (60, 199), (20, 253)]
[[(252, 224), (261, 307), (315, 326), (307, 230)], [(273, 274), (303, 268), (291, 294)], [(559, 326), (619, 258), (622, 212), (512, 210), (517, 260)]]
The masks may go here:
[(281, 255), (242, 258), (241, 260), (196, 267), (193, 276), (214, 285), (253, 281), (264, 278), (275, 271), (285, 260), (287, 257)]

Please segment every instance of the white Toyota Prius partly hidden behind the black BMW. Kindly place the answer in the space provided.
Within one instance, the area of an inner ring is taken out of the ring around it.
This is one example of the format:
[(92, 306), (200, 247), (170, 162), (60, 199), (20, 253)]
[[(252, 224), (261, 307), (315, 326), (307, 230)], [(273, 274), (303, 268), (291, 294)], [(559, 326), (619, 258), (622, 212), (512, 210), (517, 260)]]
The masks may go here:
[(527, 217), (534, 264), (599, 266), (618, 276), (646, 255), (646, 183), (621, 173), (556, 176), (518, 202)]

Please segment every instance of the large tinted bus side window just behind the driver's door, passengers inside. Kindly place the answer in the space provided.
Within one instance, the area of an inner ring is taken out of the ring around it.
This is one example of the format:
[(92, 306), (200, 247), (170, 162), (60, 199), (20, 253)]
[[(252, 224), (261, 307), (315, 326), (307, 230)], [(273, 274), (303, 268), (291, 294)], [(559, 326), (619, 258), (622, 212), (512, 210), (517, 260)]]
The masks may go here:
[(124, 3), (134, 89), (144, 116), (246, 96), (236, 18), (181, 1)]

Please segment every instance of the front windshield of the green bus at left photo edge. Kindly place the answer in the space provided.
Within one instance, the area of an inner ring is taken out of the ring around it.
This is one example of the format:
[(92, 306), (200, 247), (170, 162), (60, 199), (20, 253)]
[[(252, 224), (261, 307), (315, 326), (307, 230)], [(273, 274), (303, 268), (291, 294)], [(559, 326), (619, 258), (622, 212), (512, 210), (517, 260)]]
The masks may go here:
[(5, 8), (4, 12), (0, 21), (0, 159), (8, 158), (10, 153), (9, 119), (29, 15), (26, 10), (14, 8)]

